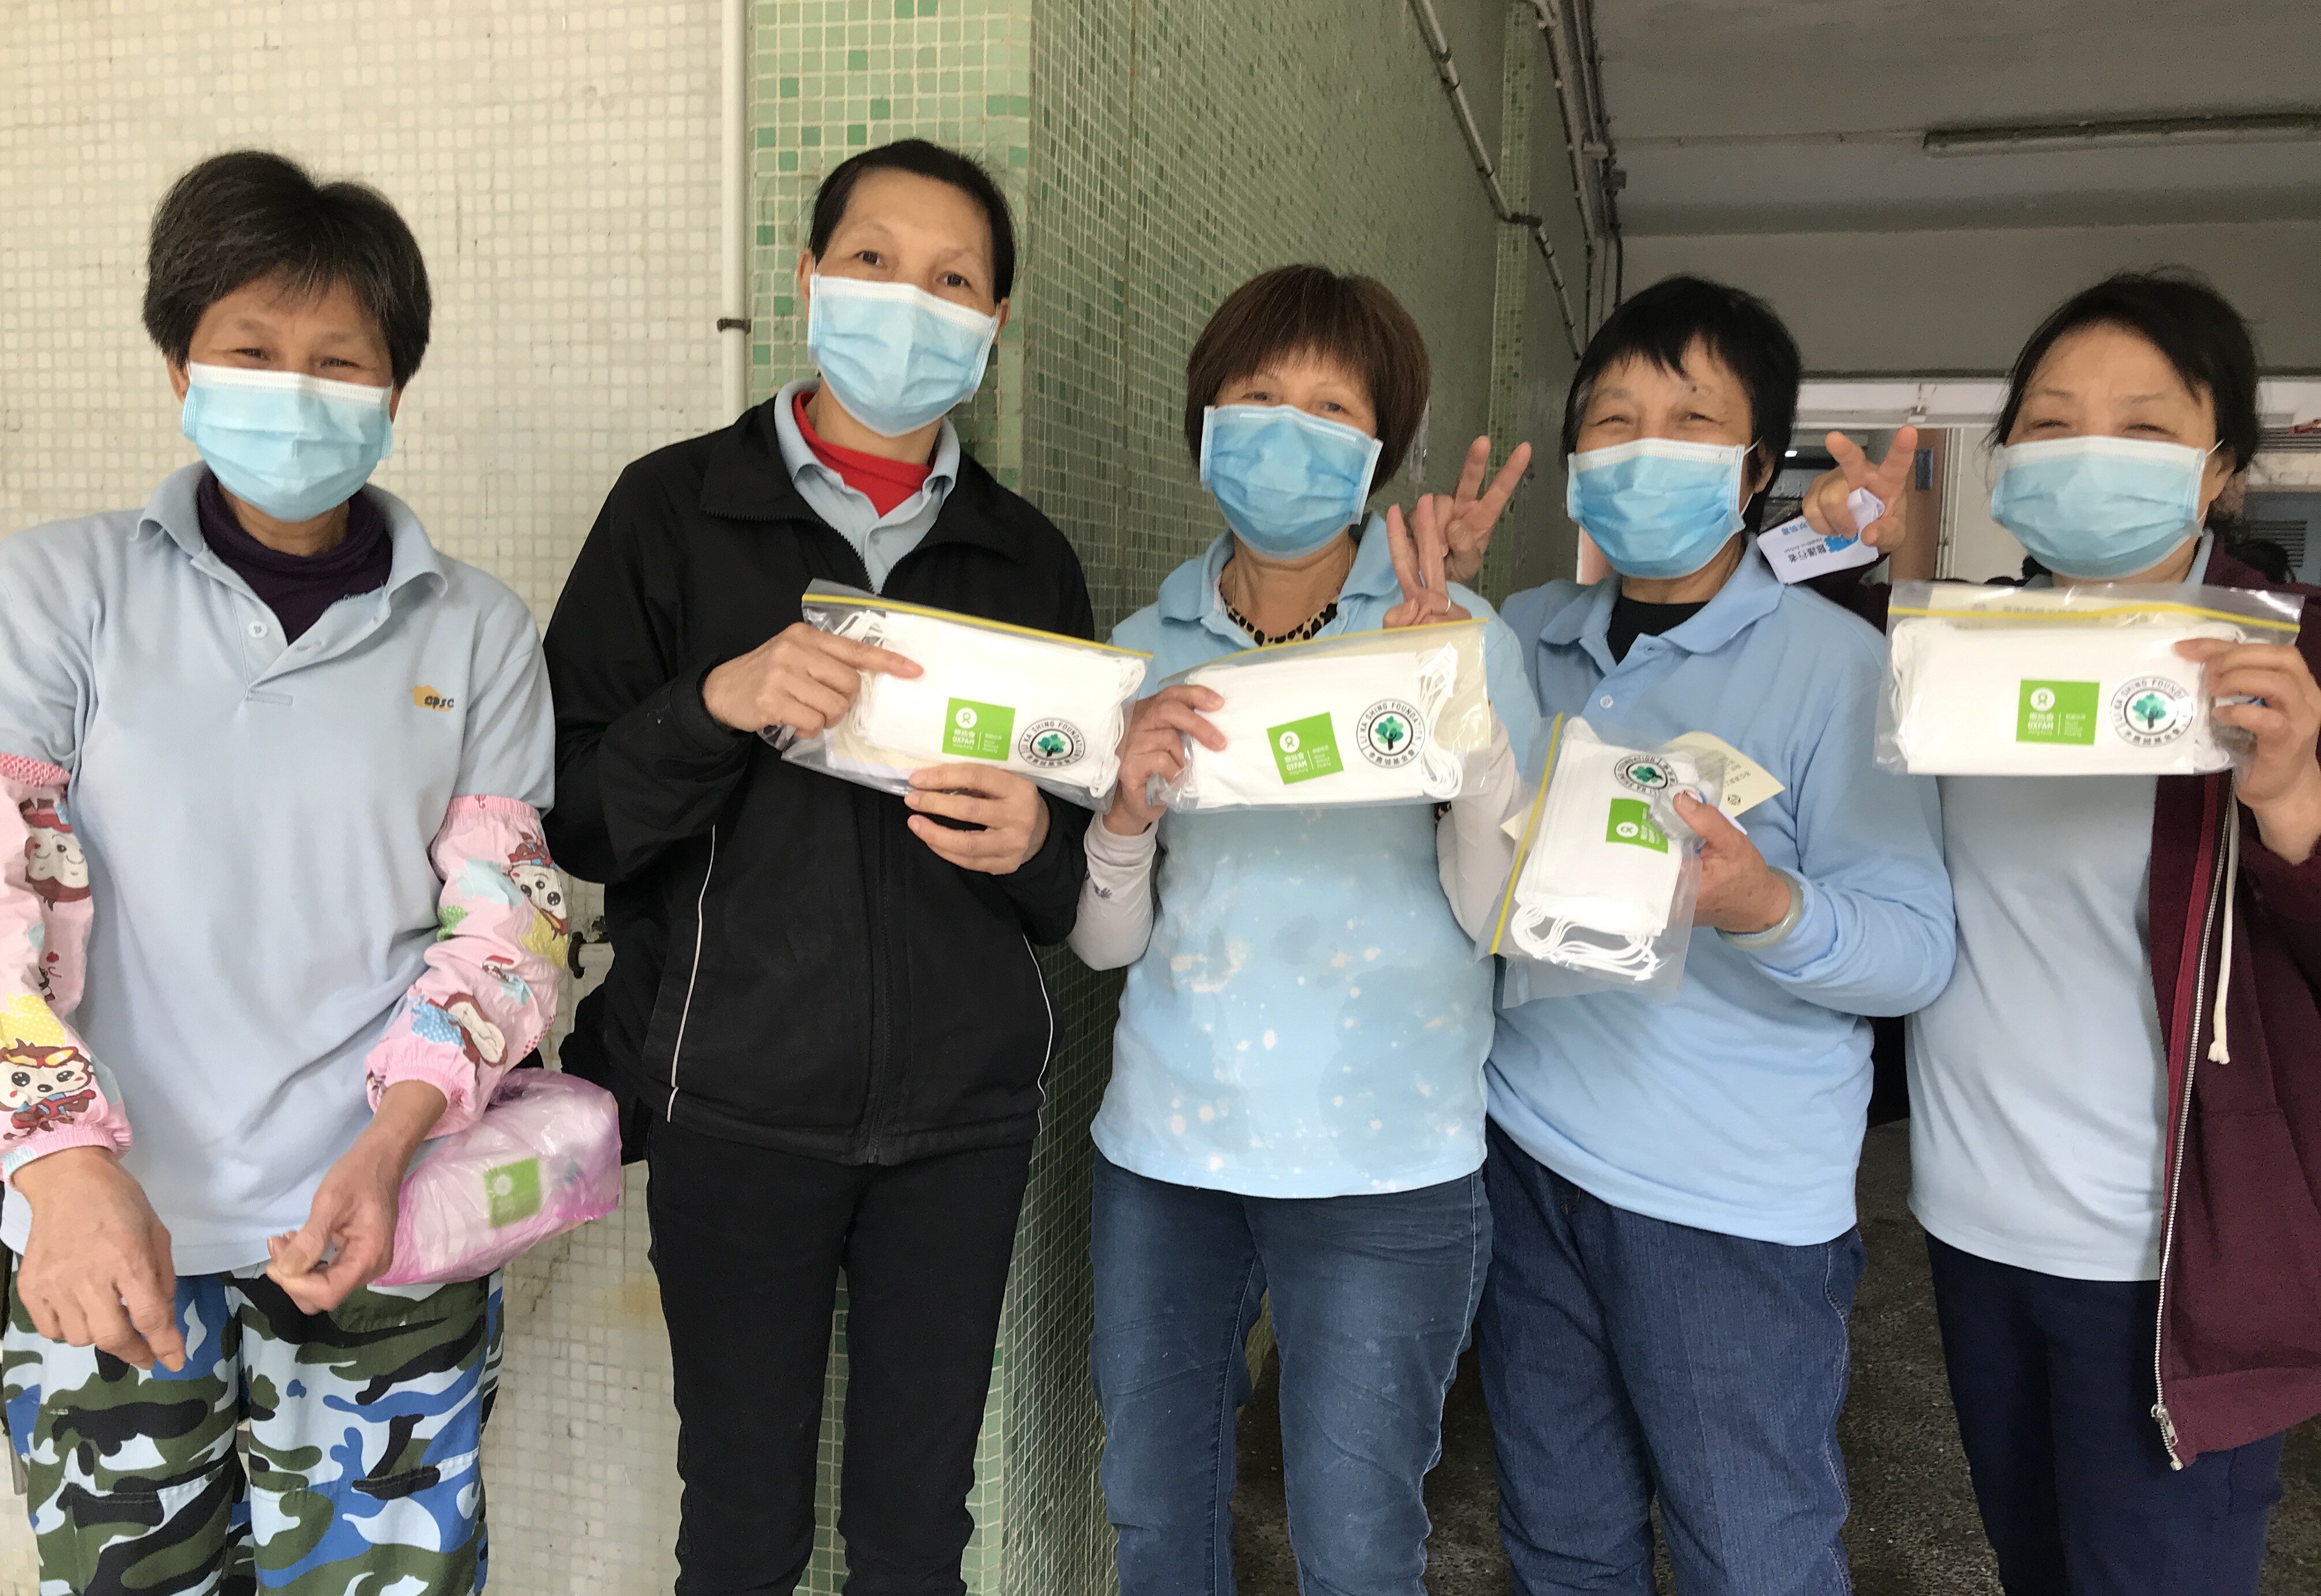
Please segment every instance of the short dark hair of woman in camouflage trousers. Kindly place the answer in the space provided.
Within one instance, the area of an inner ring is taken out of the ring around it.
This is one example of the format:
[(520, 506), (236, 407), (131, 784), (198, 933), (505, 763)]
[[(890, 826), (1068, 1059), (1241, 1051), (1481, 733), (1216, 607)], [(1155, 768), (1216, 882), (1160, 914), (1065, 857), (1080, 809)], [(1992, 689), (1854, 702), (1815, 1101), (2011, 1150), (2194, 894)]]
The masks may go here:
[(172, 364), (225, 295), (281, 278), (292, 295), (346, 283), (378, 322), (388, 371), (402, 387), (427, 353), (427, 260), (385, 195), (362, 183), (316, 183), (274, 151), (227, 151), (186, 172), (153, 211), (146, 246), (146, 334)]

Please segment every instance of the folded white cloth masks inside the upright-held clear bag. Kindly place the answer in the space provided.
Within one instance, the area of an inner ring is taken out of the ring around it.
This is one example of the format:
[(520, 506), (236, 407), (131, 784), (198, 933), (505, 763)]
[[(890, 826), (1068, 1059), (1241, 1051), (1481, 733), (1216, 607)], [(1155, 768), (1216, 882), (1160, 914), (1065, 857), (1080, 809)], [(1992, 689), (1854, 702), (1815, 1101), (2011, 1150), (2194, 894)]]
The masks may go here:
[(1613, 747), (1585, 721), (1567, 721), (1539, 833), (1516, 875), (1516, 949), (1650, 981), (1666, 963), (1660, 944), (1690, 856), (1662, 830), (1653, 803), (1683, 789), (1701, 789), (1687, 754)]

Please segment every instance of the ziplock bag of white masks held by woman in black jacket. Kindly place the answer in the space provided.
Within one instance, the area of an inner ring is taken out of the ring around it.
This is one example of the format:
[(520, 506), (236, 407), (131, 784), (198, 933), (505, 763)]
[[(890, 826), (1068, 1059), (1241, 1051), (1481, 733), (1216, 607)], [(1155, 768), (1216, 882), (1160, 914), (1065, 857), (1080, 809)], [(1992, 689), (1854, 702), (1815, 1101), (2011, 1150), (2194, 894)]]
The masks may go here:
[(908, 793), (912, 770), (989, 761), (1072, 803), (1102, 807), (1149, 654), (1054, 631), (880, 598), (838, 582), (805, 589), (805, 619), (891, 650), (926, 675), (861, 673), (845, 719), (782, 759)]

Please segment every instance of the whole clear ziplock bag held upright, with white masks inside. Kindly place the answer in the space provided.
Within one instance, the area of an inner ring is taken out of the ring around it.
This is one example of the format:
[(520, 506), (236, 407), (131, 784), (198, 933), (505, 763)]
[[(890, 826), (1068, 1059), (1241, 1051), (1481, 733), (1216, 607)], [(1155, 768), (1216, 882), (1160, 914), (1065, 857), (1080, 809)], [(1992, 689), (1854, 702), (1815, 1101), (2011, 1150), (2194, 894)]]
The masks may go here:
[(1715, 805), (1715, 754), (1604, 742), (1578, 717), (1555, 717), (1539, 798), (1516, 842), (1516, 868), (1485, 953), (1506, 958), (1506, 1002), (1625, 991), (1669, 995), (1685, 979), (1699, 835), (1676, 793)]

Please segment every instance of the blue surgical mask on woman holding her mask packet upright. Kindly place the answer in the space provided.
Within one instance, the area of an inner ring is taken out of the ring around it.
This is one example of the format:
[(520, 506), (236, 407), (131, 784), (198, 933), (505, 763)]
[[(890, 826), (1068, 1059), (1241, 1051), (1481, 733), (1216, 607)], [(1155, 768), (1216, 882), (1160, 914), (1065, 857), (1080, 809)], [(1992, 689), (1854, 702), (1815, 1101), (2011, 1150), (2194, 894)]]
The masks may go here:
[(1564, 510), (1620, 575), (1692, 575), (1741, 531), (1748, 445), (1636, 438), (1567, 462)]

